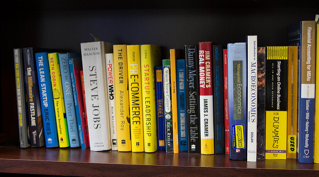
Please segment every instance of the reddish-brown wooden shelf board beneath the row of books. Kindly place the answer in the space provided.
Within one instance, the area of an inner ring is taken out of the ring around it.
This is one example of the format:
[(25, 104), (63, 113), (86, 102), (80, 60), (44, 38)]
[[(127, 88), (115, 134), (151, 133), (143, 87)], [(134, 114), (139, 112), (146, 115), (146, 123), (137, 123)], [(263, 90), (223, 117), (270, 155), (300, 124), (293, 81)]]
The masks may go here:
[(66, 176), (319, 176), (319, 164), (296, 159), (232, 161), (228, 155), (157, 151), (93, 152), (89, 149), (0, 147), (0, 173)]

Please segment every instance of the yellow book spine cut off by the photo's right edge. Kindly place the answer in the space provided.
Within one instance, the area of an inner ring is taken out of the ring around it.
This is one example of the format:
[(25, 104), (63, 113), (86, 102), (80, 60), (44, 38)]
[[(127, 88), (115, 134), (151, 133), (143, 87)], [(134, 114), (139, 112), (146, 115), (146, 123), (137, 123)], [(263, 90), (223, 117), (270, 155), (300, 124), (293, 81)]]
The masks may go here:
[[(316, 15), (316, 59), (319, 59), (319, 15)], [(314, 163), (319, 163), (319, 61), (316, 62)]]

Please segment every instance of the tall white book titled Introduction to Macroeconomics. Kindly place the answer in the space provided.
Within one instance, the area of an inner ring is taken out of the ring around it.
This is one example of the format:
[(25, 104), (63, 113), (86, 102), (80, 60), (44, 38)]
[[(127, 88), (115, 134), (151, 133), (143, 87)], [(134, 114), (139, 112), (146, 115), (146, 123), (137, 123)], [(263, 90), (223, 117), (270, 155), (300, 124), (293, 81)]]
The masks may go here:
[(257, 159), (257, 36), (247, 36), (247, 161)]

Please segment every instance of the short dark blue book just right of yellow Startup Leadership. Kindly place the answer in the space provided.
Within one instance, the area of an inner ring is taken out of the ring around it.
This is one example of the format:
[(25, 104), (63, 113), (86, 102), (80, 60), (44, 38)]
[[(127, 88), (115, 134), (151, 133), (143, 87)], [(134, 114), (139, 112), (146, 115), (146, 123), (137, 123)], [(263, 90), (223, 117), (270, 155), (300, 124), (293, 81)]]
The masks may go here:
[(162, 66), (155, 66), (155, 96), (156, 96), (156, 118), (157, 118), (157, 133), (158, 133), (158, 150), (165, 150), (165, 129), (164, 129), (164, 95), (163, 95), (163, 80)]

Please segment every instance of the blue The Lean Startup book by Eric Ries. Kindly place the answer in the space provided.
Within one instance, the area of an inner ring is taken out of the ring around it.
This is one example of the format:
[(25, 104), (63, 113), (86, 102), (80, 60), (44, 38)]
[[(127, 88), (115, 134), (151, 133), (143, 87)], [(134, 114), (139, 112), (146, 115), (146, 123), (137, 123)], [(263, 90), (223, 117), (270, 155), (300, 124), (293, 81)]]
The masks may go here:
[(48, 53), (35, 54), (46, 147), (59, 146)]

